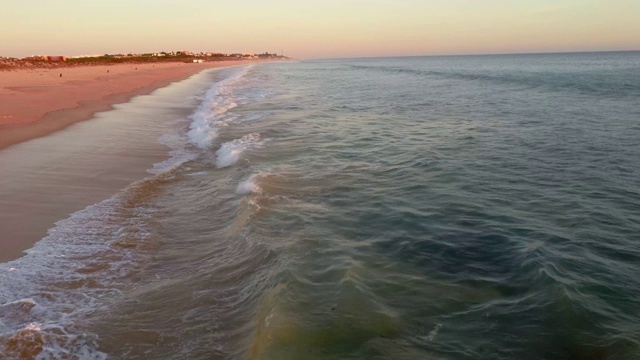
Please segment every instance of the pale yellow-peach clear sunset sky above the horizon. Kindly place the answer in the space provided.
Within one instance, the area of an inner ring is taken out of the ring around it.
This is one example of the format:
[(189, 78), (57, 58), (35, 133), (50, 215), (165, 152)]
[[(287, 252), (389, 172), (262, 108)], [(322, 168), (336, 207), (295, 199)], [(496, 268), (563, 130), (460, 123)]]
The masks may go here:
[(4, 0), (0, 56), (640, 50), (640, 0)]

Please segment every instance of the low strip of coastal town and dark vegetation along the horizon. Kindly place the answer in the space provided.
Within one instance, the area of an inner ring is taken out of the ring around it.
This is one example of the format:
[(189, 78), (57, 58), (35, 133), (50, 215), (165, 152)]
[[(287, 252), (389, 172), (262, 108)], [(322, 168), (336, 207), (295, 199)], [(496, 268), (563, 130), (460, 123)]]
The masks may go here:
[(283, 54), (264, 52), (255, 53), (232, 53), (223, 54), (219, 52), (192, 52), (182, 51), (161, 51), (154, 53), (127, 53), (127, 54), (99, 54), (99, 55), (32, 55), (24, 58), (12, 58), (0, 56), (0, 70), (11, 70), (17, 68), (55, 68), (68, 67), (74, 65), (107, 65), (118, 63), (156, 63), (156, 62), (185, 62), (203, 63), (210, 61), (234, 61), (234, 60), (287, 60)]

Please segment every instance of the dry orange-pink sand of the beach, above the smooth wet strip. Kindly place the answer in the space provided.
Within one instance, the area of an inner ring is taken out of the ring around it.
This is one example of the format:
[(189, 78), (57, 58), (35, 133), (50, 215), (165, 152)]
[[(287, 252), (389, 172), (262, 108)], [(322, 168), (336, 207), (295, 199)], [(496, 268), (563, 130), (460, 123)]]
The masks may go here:
[(204, 69), (247, 61), (114, 64), (0, 72), (0, 149), (61, 130)]

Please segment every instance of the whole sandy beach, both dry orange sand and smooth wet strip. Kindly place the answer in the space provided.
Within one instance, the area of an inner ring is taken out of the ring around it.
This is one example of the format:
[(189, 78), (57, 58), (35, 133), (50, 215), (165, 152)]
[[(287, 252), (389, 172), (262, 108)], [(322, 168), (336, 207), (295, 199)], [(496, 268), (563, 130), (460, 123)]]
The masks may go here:
[(193, 89), (206, 89), (211, 79), (167, 85), (243, 63), (0, 72), (0, 261), (24, 255), (54, 223), (149, 176), (147, 169), (167, 158), (158, 137), (193, 107), (172, 102), (195, 101)]

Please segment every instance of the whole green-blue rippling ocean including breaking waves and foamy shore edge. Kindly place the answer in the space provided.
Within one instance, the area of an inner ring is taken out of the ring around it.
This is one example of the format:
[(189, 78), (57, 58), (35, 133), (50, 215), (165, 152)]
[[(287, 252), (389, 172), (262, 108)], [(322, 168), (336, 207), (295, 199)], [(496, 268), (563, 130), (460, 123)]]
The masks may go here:
[(131, 105), (142, 180), (0, 263), (0, 359), (640, 359), (639, 52), (184, 84)]

